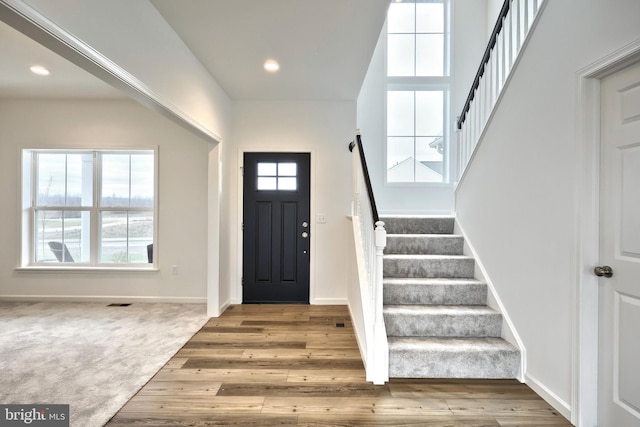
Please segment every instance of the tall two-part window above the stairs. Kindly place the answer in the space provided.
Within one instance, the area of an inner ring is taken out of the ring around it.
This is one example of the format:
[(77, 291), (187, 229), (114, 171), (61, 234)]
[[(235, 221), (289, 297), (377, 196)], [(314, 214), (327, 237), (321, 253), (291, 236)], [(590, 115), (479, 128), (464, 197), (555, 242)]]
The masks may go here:
[(386, 181), (447, 182), (449, 0), (392, 1), (386, 52)]

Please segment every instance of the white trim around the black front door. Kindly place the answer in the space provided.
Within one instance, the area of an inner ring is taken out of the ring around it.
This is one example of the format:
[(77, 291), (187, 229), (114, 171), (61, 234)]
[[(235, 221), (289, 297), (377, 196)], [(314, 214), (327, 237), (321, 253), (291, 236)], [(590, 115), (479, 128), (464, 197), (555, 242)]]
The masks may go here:
[[(244, 168), (244, 153), (308, 153), (311, 157), (311, 171), (310, 171), (310, 188), (309, 188), (309, 200), (310, 200), (310, 210), (309, 210), (309, 220), (312, 224), (312, 230), (315, 230), (315, 217), (316, 217), (316, 161), (315, 161), (315, 152), (312, 149), (300, 147), (265, 147), (265, 146), (244, 146), (239, 147), (237, 152), (238, 159), (238, 188), (237, 188), (237, 199), (238, 199), (238, 218), (236, 223), (236, 230), (238, 230), (237, 238), (237, 264), (236, 264), (236, 283), (234, 286), (234, 296), (233, 303), (234, 304), (242, 304), (242, 252), (243, 252), (243, 234), (242, 234), (242, 212), (244, 208), (244, 176), (242, 174)], [(317, 251), (316, 251), (316, 233), (311, 232), (309, 235), (309, 305), (316, 304), (316, 259), (317, 259)]]

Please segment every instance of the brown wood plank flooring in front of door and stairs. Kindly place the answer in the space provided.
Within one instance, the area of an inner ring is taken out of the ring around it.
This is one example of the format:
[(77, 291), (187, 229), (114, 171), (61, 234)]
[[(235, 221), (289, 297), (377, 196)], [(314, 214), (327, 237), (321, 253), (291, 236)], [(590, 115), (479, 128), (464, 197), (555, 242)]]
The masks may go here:
[(107, 426), (570, 426), (515, 380), (365, 372), (346, 306), (235, 305)]

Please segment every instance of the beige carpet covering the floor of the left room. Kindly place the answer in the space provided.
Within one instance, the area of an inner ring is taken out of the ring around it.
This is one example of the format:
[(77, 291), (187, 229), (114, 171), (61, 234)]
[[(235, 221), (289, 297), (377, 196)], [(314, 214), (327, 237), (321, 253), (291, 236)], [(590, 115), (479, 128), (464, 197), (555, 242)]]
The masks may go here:
[(102, 426), (206, 320), (203, 304), (0, 302), (0, 403)]

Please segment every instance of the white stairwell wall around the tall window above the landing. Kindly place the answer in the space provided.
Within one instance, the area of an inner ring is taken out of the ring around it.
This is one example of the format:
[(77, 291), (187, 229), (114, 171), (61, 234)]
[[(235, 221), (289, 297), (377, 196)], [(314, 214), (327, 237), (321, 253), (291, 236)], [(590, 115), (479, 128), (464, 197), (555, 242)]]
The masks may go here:
[[(451, 4), (450, 149), (454, 157), (455, 117), (462, 110), (486, 46), (486, 8), (486, 1), (478, 0), (454, 0)], [(357, 118), (378, 210), (381, 214), (450, 214), (454, 210), (453, 186), (450, 184), (403, 185), (384, 182), (385, 31), (383, 29), (360, 90)]]

